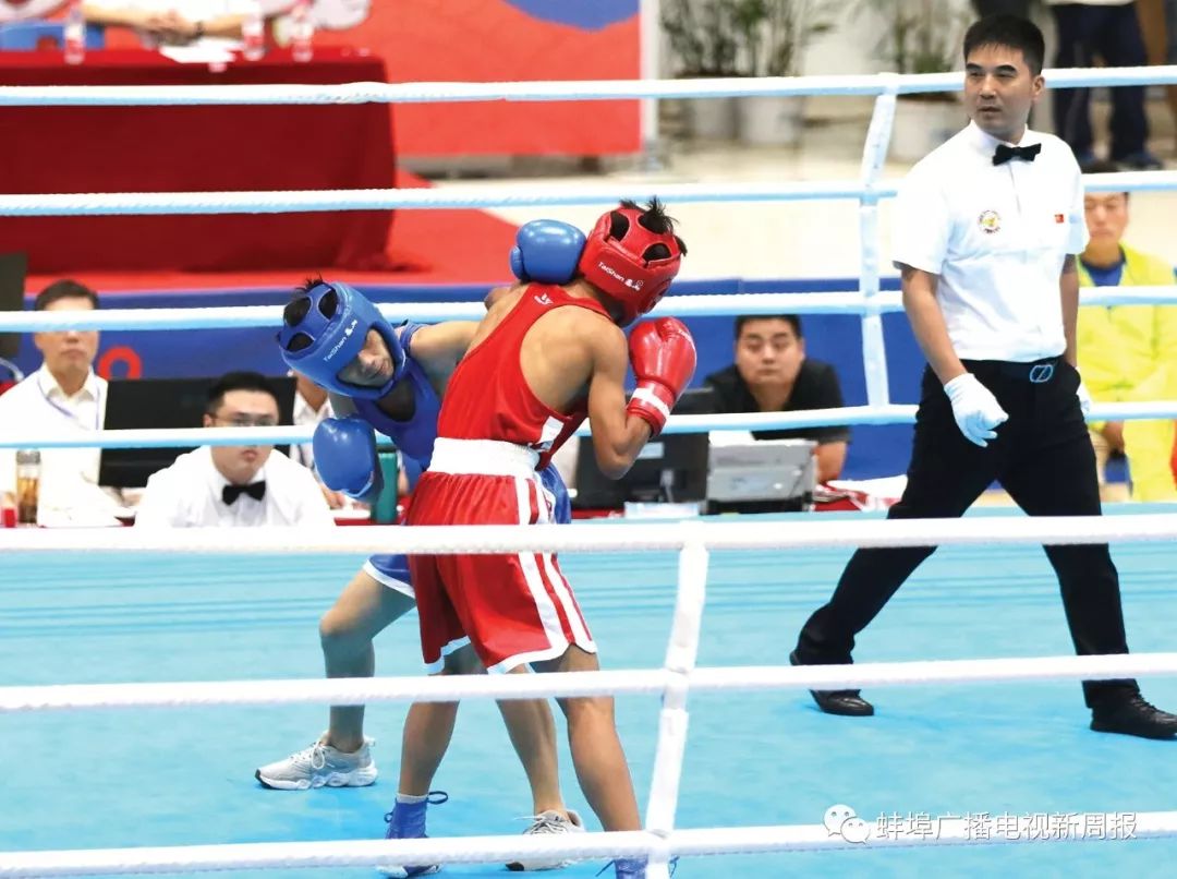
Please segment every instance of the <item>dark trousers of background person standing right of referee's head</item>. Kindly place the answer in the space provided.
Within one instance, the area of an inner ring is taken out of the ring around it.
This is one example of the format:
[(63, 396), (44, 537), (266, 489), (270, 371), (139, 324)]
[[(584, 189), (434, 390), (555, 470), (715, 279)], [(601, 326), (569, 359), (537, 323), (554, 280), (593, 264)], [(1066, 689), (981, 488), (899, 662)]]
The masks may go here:
[[(1058, 26), (1056, 67), (1091, 67), (1096, 55), (1109, 67), (1148, 64), (1136, 4), (1125, 6), (1051, 6)], [(1075, 154), (1090, 153), (1091, 90), (1059, 88), (1055, 92), (1055, 133)], [(1111, 90), (1111, 158), (1123, 159), (1145, 148), (1149, 121), (1144, 112), (1144, 86)]]

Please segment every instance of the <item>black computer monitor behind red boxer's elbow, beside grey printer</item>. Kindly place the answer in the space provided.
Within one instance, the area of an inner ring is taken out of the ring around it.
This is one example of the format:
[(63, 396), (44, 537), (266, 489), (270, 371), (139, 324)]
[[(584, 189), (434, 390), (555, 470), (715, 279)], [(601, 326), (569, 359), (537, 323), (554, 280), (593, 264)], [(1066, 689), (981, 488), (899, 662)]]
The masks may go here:
[[(686, 391), (674, 415), (706, 414), (713, 391)], [(580, 437), (577, 456), (576, 509), (621, 509), (626, 502), (691, 502), (707, 496), (707, 434), (664, 434), (646, 443), (633, 467), (620, 480), (610, 480), (597, 467), (592, 438)]]

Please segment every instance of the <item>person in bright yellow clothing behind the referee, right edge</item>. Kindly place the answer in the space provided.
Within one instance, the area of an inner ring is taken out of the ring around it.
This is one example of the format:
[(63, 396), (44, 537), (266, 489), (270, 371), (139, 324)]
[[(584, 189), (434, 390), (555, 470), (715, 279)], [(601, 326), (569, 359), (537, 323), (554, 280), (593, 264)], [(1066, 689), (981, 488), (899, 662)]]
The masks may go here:
[[(1096, 173), (1115, 166), (1093, 167)], [(1175, 283), (1166, 260), (1124, 244), (1129, 220), (1126, 192), (1089, 192), (1084, 198), (1091, 239), (1079, 257), (1082, 286), (1168, 286)], [(1177, 306), (1088, 305), (1079, 309), (1079, 372), (1100, 403), (1177, 398)], [(1099, 480), (1113, 451), (1128, 456), (1132, 500), (1177, 500), (1170, 461), (1171, 421), (1092, 423)]]

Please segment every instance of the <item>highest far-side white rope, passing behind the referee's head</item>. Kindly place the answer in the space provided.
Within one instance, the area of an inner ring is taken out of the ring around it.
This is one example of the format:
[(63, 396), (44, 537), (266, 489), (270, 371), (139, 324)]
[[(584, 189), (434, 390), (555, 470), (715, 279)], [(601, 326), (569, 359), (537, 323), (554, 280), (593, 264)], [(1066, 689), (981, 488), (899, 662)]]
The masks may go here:
[[(1051, 87), (1177, 85), (1177, 65), (1046, 70)], [(164, 106), (177, 104), (445, 104), (453, 101), (626, 100), (773, 94), (915, 94), (958, 91), (963, 72), (607, 79), (537, 82), (350, 82), (346, 85), (2, 86), (0, 106)]]

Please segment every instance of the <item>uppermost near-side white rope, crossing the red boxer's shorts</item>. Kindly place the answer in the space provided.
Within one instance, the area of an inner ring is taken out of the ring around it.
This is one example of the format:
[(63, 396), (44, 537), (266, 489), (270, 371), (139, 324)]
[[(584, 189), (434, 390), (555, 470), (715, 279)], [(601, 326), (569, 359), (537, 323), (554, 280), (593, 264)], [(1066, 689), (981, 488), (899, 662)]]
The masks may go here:
[[(691, 522), (690, 524), (696, 524)], [(1117, 516), (977, 516), (965, 518), (609, 522), (540, 526), (371, 526), (307, 533), (287, 528), (5, 528), (0, 551), (205, 553), (317, 555), (324, 553), (478, 554), (617, 553), (732, 549), (829, 549), (989, 544), (1143, 543), (1177, 538), (1177, 514)], [(292, 535), (298, 534), (298, 540)]]

